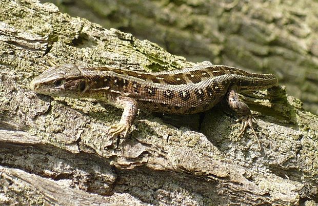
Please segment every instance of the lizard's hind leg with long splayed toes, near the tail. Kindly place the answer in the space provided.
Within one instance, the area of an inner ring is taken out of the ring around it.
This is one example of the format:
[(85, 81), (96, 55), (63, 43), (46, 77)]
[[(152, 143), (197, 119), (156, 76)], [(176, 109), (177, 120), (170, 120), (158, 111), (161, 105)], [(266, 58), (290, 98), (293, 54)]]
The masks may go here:
[(252, 116), (252, 113), (249, 107), (243, 101), (240, 101), (240, 99), (238, 99), (238, 94), (234, 88), (230, 88), (230, 90), (227, 93), (227, 103), (229, 107), (232, 110), (234, 110), (238, 116), (240, 116), (240, 118), (237, 119), (236, 121), (242, 121), (242, 129), (238, 137), (240, 138), (246, 131), (247, 126), (249, 126), (255, 135), (257, 143), (259, 144), (259, 149), (261, 149), (261, 143), (260, 143), (259, 137), (257, 136), (253, 128), (252, 120), (253, 119), (255, 120), (255, 118)]

